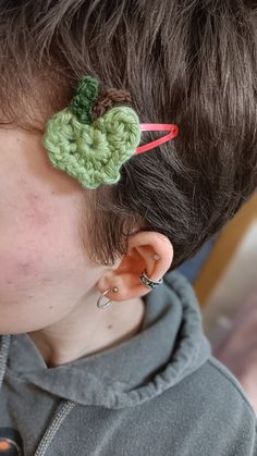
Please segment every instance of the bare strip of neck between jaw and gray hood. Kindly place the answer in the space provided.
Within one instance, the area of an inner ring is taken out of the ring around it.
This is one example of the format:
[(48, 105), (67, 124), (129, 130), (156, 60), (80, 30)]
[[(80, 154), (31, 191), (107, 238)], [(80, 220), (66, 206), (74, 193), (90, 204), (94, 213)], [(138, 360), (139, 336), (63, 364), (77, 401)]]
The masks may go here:
[(47, 367), (112, 348), (140, 332), (145, 313), (142, 298), (112, 301), (106, 309), (79, 305), (50, 326), (28, 333)]

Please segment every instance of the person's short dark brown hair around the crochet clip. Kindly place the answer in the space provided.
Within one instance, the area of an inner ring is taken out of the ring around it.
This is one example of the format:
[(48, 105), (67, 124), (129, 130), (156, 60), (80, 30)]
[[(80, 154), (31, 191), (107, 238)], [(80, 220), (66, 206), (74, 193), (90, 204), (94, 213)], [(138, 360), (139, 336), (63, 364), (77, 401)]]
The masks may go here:
[[(180, 126), (178, 138), (124, 163), (118, 184), (85, 190), (90, 201), (85, 246), (96, 261), (124, 255), (136, 227), (169, 237), (175, 268), (255, 190), (254, 3), (0, 1), (0, 101), (7, 121), (40, 131), (41, 119), (64, 108), (88, 74), (99, 78), (103, 95), (127, 91), (131, 101), (124, 103), (142, 123)], [(156, 137), (144, 133), (143, 143)]]

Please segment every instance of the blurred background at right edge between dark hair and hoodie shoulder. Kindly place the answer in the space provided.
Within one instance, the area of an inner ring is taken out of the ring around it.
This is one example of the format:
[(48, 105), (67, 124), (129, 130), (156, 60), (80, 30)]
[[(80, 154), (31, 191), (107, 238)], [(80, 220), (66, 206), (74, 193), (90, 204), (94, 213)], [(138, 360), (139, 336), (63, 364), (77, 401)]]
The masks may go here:
[(257, 194), (179, 270), (195, 289), (215, 354), (257, 409)]

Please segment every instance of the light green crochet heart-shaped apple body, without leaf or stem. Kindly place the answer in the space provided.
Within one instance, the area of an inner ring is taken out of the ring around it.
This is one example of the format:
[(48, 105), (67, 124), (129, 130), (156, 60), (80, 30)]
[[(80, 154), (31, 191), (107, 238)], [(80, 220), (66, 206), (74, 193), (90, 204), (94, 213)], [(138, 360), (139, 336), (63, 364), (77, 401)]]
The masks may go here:
[(128, 107), (112, 108), (91, 124), (81, 123), (65, 108), (47, 122), (44, 135), (53, 167), (87, 188), (117, 183), (122, 164), (139, 141), (139, 119)]

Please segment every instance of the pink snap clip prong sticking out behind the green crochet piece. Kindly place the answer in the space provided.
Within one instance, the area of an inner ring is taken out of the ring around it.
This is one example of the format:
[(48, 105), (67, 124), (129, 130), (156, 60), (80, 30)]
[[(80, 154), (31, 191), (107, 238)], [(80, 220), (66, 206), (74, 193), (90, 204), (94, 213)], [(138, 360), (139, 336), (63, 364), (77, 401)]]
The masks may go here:
[(169, 124), (169, 123), (142, 123), (140, 124), (140, 131), (142, 132), (170, 132), (168, 135), (162, 136), (161, 138), (158, 138), (156, 140), (152, 140), (151, 143), (144, 144), (144, 146), (137, 147), (134, 156), (137, 153), (146, 152), (147, 150), (154, 149), (157, 146), (160, 146), (161, 144), (167, 143), (170, 139), (175, 138), (179, 135), (179, 126), (175, 124)]

